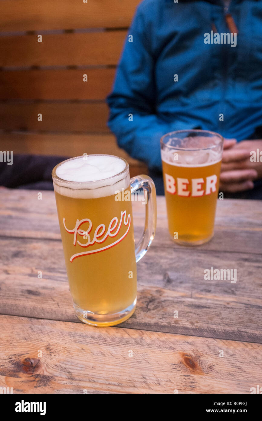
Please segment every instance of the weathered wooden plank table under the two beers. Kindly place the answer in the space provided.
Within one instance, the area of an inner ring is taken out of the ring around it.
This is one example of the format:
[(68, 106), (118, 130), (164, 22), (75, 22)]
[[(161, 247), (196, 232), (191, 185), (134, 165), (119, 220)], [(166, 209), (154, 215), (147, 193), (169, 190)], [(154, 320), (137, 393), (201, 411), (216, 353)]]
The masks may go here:
[[(169, 239), (158, 197), (156, 237), (138, 263), (137, 310), (122, 325), (95, 328), (74, 314), (53, 192), (42, 200), (37, 193), (0, 190), (0, 386), (14, 393), (262, 386), (260, 201), (219, 200), (213, 240), (186, 248)], [(134, 203), (137, 237), (143, 213)], [(204, 280), (211, 266), (237, 269), (237, 282)]]

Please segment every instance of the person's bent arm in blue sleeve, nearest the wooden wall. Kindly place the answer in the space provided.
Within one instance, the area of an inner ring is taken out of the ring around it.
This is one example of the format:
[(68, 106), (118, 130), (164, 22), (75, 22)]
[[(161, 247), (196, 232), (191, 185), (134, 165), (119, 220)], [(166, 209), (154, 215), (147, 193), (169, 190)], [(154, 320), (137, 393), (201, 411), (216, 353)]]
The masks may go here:
[[(132, 42), (129, 42), (132, 35)], [(154, 58), (140, 7), (135, 14), (116, 71), (110, 108), (109, 128), (119, 147), (149, 168), (161, 170), (160, 138), (170, 126), (155, 109)]]

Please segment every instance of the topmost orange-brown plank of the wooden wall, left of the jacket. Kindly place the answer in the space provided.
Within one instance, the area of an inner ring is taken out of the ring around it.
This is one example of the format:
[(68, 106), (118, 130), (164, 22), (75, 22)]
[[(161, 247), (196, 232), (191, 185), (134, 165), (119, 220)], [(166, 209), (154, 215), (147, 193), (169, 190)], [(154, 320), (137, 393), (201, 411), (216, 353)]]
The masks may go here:
[(1, 0), (0, 27), (6, 31), (128, 27), (140, 0)]

